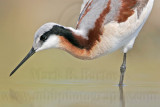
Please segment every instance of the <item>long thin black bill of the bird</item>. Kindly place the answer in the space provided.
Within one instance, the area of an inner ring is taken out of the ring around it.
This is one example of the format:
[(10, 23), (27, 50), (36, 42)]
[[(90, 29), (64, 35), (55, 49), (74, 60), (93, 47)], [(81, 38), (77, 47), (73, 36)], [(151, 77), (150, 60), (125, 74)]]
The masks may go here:
[(26, 62), (33, 54), (35, 53), (34, 48), (32, 47), (32, 49), (29, 51), (29, 53), (27, 54), (27, 56), (19, 63), (19, 65), (10, 73), (10, 76), (12, 76), (17, 69), (24, 63)]

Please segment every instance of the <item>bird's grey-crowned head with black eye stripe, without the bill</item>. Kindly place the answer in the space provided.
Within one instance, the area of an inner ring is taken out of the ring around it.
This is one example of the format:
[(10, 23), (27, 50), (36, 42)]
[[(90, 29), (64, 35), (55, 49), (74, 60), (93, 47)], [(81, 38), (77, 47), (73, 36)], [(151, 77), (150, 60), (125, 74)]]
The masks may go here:
[(35, 33), (33, 48), (35, 52), (59, 47), (59, 28), (55, 23), (46, 23), (42, 25)]

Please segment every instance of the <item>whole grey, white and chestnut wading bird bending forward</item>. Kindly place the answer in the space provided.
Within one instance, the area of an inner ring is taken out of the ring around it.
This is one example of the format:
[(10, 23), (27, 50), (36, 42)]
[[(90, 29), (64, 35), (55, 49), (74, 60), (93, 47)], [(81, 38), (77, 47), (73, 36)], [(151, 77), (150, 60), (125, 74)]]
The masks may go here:
[(33, 54), (46, 49), (61, 49), (82, 60), (122, 50), (119, 85), (124, 85), (127, 52), (153, 4), (154, 0), (83, 0), (76, 28), (53, 22), (42, 25), (35, 33), (31, 50), (10, 76)]

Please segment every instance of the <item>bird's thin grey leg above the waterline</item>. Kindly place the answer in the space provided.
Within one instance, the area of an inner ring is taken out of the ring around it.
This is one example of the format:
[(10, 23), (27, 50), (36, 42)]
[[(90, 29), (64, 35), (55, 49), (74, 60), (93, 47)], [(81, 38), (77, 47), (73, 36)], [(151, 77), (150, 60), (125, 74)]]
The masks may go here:
[(121, 67), (120, 67), (121, 75), (120, 75), (119, 86), (122, 86), (122, 85), (123, 85), (124, 73), (125, 73), (125, 71), (126, 71), (126, 56), (127, 56), (127, 53), (124, 53), (123, 63), (122, 63), (122, 65), (121, 65)]

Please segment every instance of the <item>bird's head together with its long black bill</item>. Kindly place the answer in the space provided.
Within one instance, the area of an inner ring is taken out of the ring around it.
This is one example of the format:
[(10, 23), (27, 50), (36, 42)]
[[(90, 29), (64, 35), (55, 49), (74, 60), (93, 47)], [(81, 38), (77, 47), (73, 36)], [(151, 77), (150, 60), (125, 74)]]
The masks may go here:
[(29, 59), (34, 53), (49, 49), (49, 48), (58, 48), (59, 47), (59, 35), (64, 33), (69, 33), (64, 27), (55, 24), (55, 23), (46, 23), (42, 25), (37, 32), (35, 33), (34, 42), (31, 50), (27, 56), (19, 63), (19, 65), (11, 72), (10, 76)]

